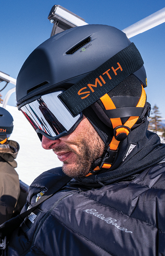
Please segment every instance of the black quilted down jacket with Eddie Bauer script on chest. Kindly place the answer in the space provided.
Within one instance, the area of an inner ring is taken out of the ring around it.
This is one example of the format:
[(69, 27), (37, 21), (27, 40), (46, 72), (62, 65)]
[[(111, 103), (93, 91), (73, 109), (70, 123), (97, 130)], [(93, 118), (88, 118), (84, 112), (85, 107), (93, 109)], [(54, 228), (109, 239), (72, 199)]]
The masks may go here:
[[(165, 145), (151, 132), (130, 142), (136, 147), (122, 156), (116, 176), (72, 179), (7, 237), (4, 255), (165, 255)], [(38, 176), (22, 211), (64, 175), (59, 167)]]

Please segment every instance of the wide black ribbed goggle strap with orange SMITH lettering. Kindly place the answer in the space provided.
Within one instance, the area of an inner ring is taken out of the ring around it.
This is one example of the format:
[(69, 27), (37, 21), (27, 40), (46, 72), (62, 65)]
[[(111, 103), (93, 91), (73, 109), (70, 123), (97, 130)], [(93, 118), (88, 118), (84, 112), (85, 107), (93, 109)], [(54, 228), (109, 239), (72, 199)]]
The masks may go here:
[(127, 76), (140, 69), (143, 64), (138, 49), (134, 43), (131, 43), (88, 76), (64, 91), (59, 98), (73, 115), (77, 115), (116, 87)]

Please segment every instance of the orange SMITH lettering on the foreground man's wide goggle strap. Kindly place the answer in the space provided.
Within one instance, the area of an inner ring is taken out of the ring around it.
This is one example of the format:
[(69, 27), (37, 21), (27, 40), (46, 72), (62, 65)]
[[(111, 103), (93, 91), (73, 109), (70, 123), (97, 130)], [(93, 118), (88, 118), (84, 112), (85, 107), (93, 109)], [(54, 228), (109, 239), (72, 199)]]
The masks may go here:
[[(111, 67), (112, 71), (114, 72), (114, 74), (115, 74), (116, 76), (117, 76), (117, 72), (116, 72), (116, 71), (117, 71), (118, 69), (120, 69), (121, 71), (123, 71), (123, 69), (122, 69), (121, 65), (119, 64), (119, 62), (117, 62), (117, 65), (118, 65), (117, 69), (114, 69), (114, 67)], [(103, 76), (108, 76), (108, 78), (109, 78), (110, 80), (112, 79), (112, 77), (111, 77), (110, 74), (109, 74), (109, 71), (110, 71), (111, 69), (106, 70), (106, 71), (102, 74)], [(99, 78), (100, 78), (100, 80), (103, 82), (103, 84), (105, 84), (106, 82), (105, 82), (105, 80), (104, 80), (104, 78), (103, 78), (102, 75), (100, 75)], [(96, 78), (96, 79), (95, 79), (95, 84), (91, 84), (91, 83), (88, 83), (88, 84), (87, 84), (87, 86), (88, 86), (89, 89), (92, 91), (92, 93), (94, 92), (94, 89), (93, 89), (92, 87), (97, 87), (97, 83), (99, 83), (100, 86), (103, 85), (102, 82), (99, 80), (99, 78)], [(85, 90), (85, 89), (87, 89), (87, 87), (83, 87), (83, 88), (81, 88), (81, 89), (78, 91), (78, 95), (86, 94), (85, 96), (81, 97), (81, 99), (84, 99), (84, 98), (86, 98), (86, 97), (88, 97), (88, 96), (90, 95), (90, 91), (83, 91), (83, 90)], [(82, 92), (82, 91), (83, 91), (83, 92)]]

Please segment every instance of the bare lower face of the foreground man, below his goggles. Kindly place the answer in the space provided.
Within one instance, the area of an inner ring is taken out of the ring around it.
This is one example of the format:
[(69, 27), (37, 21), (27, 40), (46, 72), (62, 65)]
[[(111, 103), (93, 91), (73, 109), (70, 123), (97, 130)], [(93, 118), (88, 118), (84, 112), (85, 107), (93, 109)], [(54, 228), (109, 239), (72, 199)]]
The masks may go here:
[(92, 162), (101, 157), (104, 143), (86, 117), (69, 135), (55, 141), (42, 136), (42, 147), (52, 149), (63, 162), (62, 171), (70, 177), (89, 173)]

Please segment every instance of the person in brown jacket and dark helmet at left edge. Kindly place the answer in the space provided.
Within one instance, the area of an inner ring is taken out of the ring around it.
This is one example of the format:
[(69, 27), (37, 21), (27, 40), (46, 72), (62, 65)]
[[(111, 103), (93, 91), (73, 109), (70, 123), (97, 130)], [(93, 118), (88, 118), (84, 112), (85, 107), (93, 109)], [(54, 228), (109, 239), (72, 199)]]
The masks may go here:
[(9, 140), (13, 117), (0, 107), (0, 224), (11, 219), (20, 195), (20, 182), (15, 171), (19, 144)]

